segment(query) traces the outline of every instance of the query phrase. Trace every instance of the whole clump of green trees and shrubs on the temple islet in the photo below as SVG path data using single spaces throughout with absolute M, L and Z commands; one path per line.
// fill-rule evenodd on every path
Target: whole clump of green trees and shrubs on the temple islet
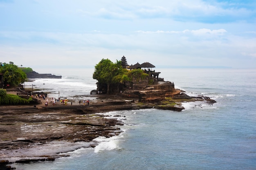
M 93 73 L 93 78 L 98 81 L 97 90 L 106 91 L 107 94 L 124 91 L 146 77 L 148 74 L 141 69 L 127 70 L 122 67 L 121 61 L 113 63 L 109 59 L 102 59 L 95 65 Z

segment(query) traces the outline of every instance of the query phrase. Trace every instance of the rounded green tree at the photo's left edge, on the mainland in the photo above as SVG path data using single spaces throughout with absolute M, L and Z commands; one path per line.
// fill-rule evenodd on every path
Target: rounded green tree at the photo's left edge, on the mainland
M 15 86 L 20 83 L 24 83 L 27 75 L 23 72 L 17 65 L 14 65 L 12 62 L 10 64 L 4 64 L 0 67 L 0 73 L 3 74 L 4 84 Z

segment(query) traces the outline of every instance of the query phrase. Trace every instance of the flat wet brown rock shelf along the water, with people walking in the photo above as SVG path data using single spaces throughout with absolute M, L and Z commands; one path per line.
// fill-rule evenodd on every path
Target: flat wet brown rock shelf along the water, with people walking
M 167 98 L 167 101 L 163 100 L 158 105 L 141 103 L 120 95 L 96 96 L 97 100 L 92 100 L 90 105 L 86 106 L 77 102 L 73 105 L 57 102 L 55 106 L 50 102 L 47 107 L 43 103 L 0 106 L 0 166 L 10 163 L 53 161 L 59 157 L 68 157 L 65 153 L 71 151 L 70 149 L 97 146 L 93 139 L 99 136 L 108 138 L 119 135 L 122 132 L 119 126 L 123 125 L 120 120 L 125 117 L 107 117 L 102 114 L 108 111 L 148 108 L 182 111 L 184 107 L 179 105 L 180 102 L 215 102 L 209 98 L 191 98 L 184 94 L 176 96 L 176 100 Z M 62 147 L 56 148 L 58 145 Z M 66 145 L 69 146 L 69 150 L 63 149 Z M 45 147 L 45 150 L 38 152 L 39 147 Z

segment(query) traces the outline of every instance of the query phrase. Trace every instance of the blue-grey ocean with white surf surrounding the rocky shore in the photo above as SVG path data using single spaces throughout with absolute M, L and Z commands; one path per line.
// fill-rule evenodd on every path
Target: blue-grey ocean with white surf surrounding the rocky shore
M 62 79 L 25 82 L 25 87 L 33 84 L 34 89 L 42 88 L 53 97 L 78 101 L 96 89 L 93 68 L 34 70 L 62 75 Z M 256 169 L 256 69 L 155 70 L 188 95 L 208 96 L 217 103 L 184 103 L 181 112 L 107 112 L 104 114 L 126 116 L 121 117 L 120 135 L 94 139 L 95 148 L 82 143 L 66 153 L 70 157 L 11 166 L 16 170 Z

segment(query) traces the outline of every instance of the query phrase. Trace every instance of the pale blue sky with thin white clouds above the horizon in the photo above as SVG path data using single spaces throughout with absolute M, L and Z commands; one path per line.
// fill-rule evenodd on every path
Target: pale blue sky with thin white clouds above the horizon
M 255 0 L 0 0 L 0 62 L 256 68 Z

